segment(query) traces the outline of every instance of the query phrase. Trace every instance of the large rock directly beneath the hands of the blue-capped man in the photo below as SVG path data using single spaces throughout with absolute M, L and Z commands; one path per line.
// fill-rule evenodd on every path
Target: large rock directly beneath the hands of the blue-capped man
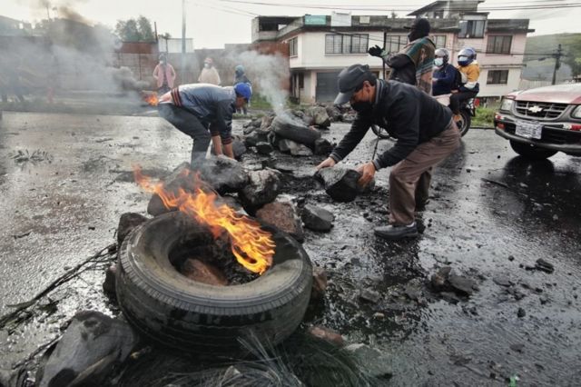
M 201 178 L 220 194 L 235 193 L 248 182 L 248 174 L 242 164 L 223 155 L 206 159 L 202 165 Z

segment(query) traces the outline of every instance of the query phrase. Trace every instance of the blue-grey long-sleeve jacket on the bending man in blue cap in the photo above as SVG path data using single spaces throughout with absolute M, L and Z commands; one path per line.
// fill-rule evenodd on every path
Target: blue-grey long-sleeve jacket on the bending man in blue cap
M 236 93 L 233 87 L 214 84 L 182 84 L 172 89 L 172 101 L 195 114 L 202 124 L 220 134 L 222 144 L 231 142 L 232 114 Z

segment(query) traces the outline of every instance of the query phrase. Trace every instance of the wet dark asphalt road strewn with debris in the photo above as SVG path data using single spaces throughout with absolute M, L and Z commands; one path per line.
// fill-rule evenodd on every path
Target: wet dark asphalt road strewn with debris
M 324 136 L 339 141 L 348 128 L 333 124 Z M 346 163 L 369 160 L 374 144 L 368 134 Z M 388 146 L 380 142 L 379 151 Z M 158 118 L 5 113 L 0 314 L 113 243 L 121 213 L 145 213 L 149 195 L 132 183 L 133 164 L 162 174 L 188 160 L 190 147 Z M 388 353 L 389 385 L 506 385 L 513 375 L 518 385 L 581 381 L 581 158 L 527 162 L 493 131 L 472 130 L 434 176 L 419 213 L 425 232 L 385 243 L 372 229 L 387 220 L 389 170 L 377 174 L 376 192 L 333 203 L 310 179 L 320 158 L 279 157 L 297 167 L 287 193 L 336 215 L 331 233 L 308 232 L 304 243 L 330 276 L 310 320 Z M 555 273 L 527 270 L 538 258 Z M 430 293 L 423 283 L 445 265 L 473 278 L 478 292 L 458 303 Z M 75 312 L 115 313 L 102 282 L 103 273 L 85 273 L 54 293 L 56 311 L 0 331 L 0 368 L 56 337 Z M 379 292 L 379 302 L 362 303 L 360 288 Z

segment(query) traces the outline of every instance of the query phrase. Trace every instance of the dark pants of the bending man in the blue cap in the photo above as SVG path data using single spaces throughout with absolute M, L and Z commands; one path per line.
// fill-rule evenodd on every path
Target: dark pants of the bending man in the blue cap
M 211 140 L 208 128 L 200 122 L 195 114 L 183 107 L 174 104 L 159 104 L 158 108 L 162 118 L 183 134 L 192 137 L 192 169 L 198 169 L 206 157 Z

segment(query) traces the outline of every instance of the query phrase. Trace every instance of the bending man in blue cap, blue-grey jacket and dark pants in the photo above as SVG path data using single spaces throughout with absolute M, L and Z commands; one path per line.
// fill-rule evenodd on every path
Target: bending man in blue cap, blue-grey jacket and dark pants
M 215 154 L 234 158 L 232 114 L 250 101 L 251 87 L 182 84 L 160 97 L 160 116 L 193 139 L 192 169 L 199 169 L 212 138 Z

